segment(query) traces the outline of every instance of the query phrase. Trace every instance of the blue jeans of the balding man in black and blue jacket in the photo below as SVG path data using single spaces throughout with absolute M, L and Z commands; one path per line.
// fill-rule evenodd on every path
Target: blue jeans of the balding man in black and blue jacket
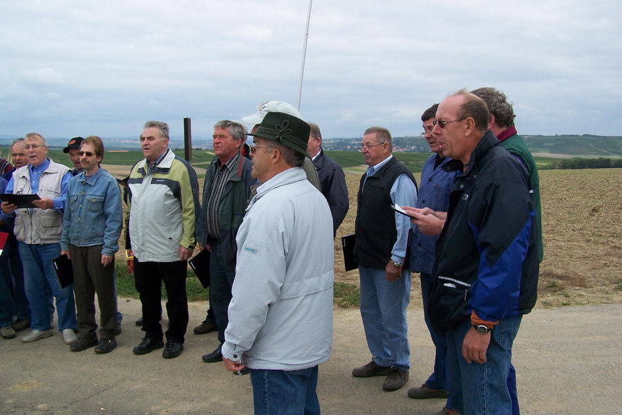
M 486 353 L 487 362 L 466 363 L 462 341 L 471 329 L 471 319 L 447 332 L 449 389 L 454 407 L 462 415 L 510 415 L 512 398 L 508 389 L 512 344 L 522 315 L 505 317 L 494 327 Z

